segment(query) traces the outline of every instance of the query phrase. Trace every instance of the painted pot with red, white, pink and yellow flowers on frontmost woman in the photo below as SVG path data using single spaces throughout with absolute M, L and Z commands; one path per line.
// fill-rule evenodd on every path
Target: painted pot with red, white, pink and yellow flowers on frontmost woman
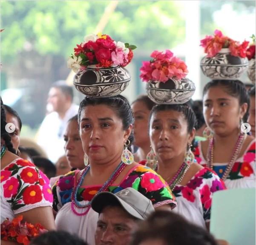
M 74 85 L 86 96 L 109 97 L 125 90 L 131 79 L 124 68 L 131 62 L 135 45 L 115 42 L 106 34 L 90 34 L 74 48 L 68 67 L 76 73 Z

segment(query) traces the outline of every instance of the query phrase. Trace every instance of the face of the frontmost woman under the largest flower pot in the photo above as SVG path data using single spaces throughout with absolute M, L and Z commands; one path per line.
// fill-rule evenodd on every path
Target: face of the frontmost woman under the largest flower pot
M 132 130 L 123 129 L 121 118 L 111 107 L 89 105 L 83 108 L 80 121 L 80 137 L 89 163 L 104 164 L 117 161 Z

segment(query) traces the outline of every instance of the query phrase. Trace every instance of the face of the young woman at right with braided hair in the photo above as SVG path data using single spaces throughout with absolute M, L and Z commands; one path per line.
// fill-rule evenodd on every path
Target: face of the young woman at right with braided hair
M 225 92 L 223 86 L 210 87 L 203 97 L 204 120 L 216 135 L 229 135 L 240 130 L 240 121 L 247 104 L 239 106 L 239 100 Z

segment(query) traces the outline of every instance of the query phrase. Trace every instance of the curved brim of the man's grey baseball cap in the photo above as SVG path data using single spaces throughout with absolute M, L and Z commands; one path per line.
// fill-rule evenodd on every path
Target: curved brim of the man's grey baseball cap
M 133 217 L 144 220 L 144 218 L 138 213 L 138 211 L 135 210 L 135 208 L 111 192 L 101 192 L 92 199 L 92 209 L 99 214 L 106 206 L 111 206 L 113 204 L 119 204 Z

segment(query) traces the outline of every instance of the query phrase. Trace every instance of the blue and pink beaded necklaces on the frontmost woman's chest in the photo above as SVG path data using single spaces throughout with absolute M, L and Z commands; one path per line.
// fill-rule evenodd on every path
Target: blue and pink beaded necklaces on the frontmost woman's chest
M 119 165 L 117 166 L 117 168 L 115 169 L 115 171 L 112 173 L 112 175 L 109 177 L 109 179 L 103 184 L 103 186 L 101 187 L 101 189 L 99 189 L 99 191 L 97 192 L 97 194 L 99 194 L 102 191 L 106 191 L 109 186 L 111 186 L 111 184 L 116 180 L 116 178 L 121 174 L 121 172 L 124 170 L 124 168 L 127 165 L 123 162 L 119 163 Z M 78 194 L 78 189 L 81 187 L 81 184 L 83 183 L 83 179 L 86 176 L 86 174 L 88 173 L 90 169 L 90 165 L 88 165 L 83 172 L 81 173 L 79 179 L 78 179 L 78 183 L 77 185 L 73 187 L 73 191 L 72 191 L 72 195 L 71 195 L 71 209 L 73 211 L 74 214 L 78 215 L 78 216 L 83 216 L 86 215 L 89 212 L 89 209 L 91 208 L 91 202 L 82 205 L 79 203 L 79 201 L 77 200 L 77 194 Z M 97 195 L 95 194 L 95 195 Z M 77 208 L 87 208 L 85 212 L 83 213 L 78 213 L 75 210 L 75 207 Z

